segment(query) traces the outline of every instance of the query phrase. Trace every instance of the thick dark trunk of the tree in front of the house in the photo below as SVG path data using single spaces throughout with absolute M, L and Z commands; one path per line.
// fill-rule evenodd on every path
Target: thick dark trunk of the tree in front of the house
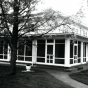
M 11 74 L 16 74 L 16 59 L 17 59 L 17 43 L 18 43 L 18 12 L 19 3 L 18 0 L 14 0 L 14 24 L 13 33 L 11 38 Z

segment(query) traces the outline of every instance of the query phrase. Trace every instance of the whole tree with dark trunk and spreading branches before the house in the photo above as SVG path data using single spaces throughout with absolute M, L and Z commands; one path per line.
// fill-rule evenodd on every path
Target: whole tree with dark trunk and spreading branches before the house
M 11 74 L 16 74 L 16 59 L 19 40 L 22 45 L 26 35 L 33 40 L 43 36 L 55 28 L 65 25 L 65 18 L 58 21 L 57 18 L 63 18 L 60 14 L 49 9 L 41 13 L 34 13 L 38 0 L 0 0 L 0 34 L 9 44 L 11 49 Z M 44 32 L 31 34 L 32 31 L 43 29 Z M 26 36 L 27 37 L 27 36 Z

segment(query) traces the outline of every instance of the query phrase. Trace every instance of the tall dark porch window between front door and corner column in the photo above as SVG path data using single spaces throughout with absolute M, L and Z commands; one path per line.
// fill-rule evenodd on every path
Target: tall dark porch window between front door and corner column
M 64 64 L 65 39 L 55 40 L 55 63 Z

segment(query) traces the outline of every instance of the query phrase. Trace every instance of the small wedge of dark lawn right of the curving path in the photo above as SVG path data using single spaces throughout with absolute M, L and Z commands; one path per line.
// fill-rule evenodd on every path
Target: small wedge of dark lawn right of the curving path
M 69 75 L 71 78 L 88 85 L 88 70 L 72 73 Z

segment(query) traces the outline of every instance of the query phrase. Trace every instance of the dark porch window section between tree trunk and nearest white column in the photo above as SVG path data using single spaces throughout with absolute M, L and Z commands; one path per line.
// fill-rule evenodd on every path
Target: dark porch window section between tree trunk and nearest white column
M 32 61 L 32 41 L 27 41 L 25 45 L 21 44 L 21 41 L 19 41 L 18 60 Z

